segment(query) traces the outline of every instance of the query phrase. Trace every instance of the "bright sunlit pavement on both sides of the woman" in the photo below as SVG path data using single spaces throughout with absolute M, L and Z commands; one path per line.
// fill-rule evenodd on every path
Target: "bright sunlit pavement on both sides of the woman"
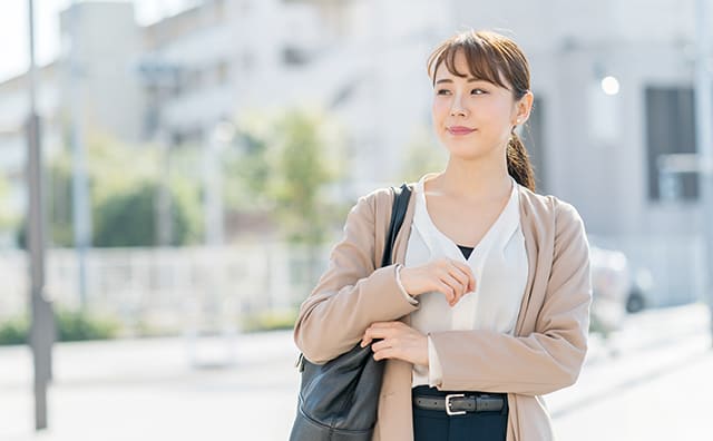
M 593 339 L 577 384 L 547 396 L 559 438 L 711 437 L 707 329 L 705 307 L 691 305 L 633 315 L 609 345 Z M 50 429 L 40 434 L 29 351 L 0 347 L 0 441 L 286 440 L 300 380 L 291 332 L 196 347 L 182 339 L 58 344 Z M 205 367 L 192 366 L 192 354 Z

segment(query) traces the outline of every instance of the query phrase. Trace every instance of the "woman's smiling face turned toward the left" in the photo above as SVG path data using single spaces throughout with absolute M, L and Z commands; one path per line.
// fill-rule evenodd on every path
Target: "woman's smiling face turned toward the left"
M 466 56 L 456 55 L 456 70 L 469 72 Z M 502 81 L 510 87 L 507 80 Z M 436 71 L 432 117 L 438 138 L 451 156 L 462 159 L 505 158 L 518 106 L 509 89 L 486 80 L 458 77 L 445 62 Z M 521 114 L 521 112 L 520 112 Z

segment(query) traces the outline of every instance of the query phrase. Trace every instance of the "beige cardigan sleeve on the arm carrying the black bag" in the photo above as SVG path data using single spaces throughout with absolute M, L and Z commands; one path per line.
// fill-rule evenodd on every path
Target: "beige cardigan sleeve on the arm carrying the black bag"
M 351 350 L 372 323 L 397 320 L 418 308 L 399 287 L 395 264 L 377 268 L 375 204 L 377 193 L 372 193 L 351 209 L 326 272 L 300 307 L 294 341 L 313 363 Z

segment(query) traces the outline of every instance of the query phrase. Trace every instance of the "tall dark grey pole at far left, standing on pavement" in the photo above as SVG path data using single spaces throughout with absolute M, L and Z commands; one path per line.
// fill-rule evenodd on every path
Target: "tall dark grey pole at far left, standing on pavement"
M 28 0 L 30 19 L 30 115 L 28 131 L 27 178 L 30 194 L 28 210 L 28 249 L 30 252 L 31 325 L 30 347 L 33 363 L 35 429 L 47 428 L 47 385 L 52 376 L 52 342 L 55 314 L 45 297 L 45 199 L 42 192 L 42 149 L 40 145 L 40 118 L 37 114 L 37 72 L 35 63 L 35 8 Z

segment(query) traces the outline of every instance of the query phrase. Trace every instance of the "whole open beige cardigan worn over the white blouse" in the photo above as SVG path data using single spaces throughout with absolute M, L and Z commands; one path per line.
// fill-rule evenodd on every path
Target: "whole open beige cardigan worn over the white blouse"
M 443 369 L 442 390 L 508 392 L 508 441 L 554 439 L 539 395 L 573 384 L 587 350 L 589 251 L 576 209 L 519 186 L 528 278 L 515 335 L 488 331 L 432 333 Z M 307 360 L 324 363 L 353 347 L 373 322 L 401 320 L 418 306 L 400 292 L 395 266 L 381 263 L 391 204 L 389 189 L 359 199 L 332 249 L 330 265 L 304 301 L 294 339 Z M 413 197 L 394 245 L 403 263 Z M 387 361 L 374 440 L 411 441 L 410 363 Z

